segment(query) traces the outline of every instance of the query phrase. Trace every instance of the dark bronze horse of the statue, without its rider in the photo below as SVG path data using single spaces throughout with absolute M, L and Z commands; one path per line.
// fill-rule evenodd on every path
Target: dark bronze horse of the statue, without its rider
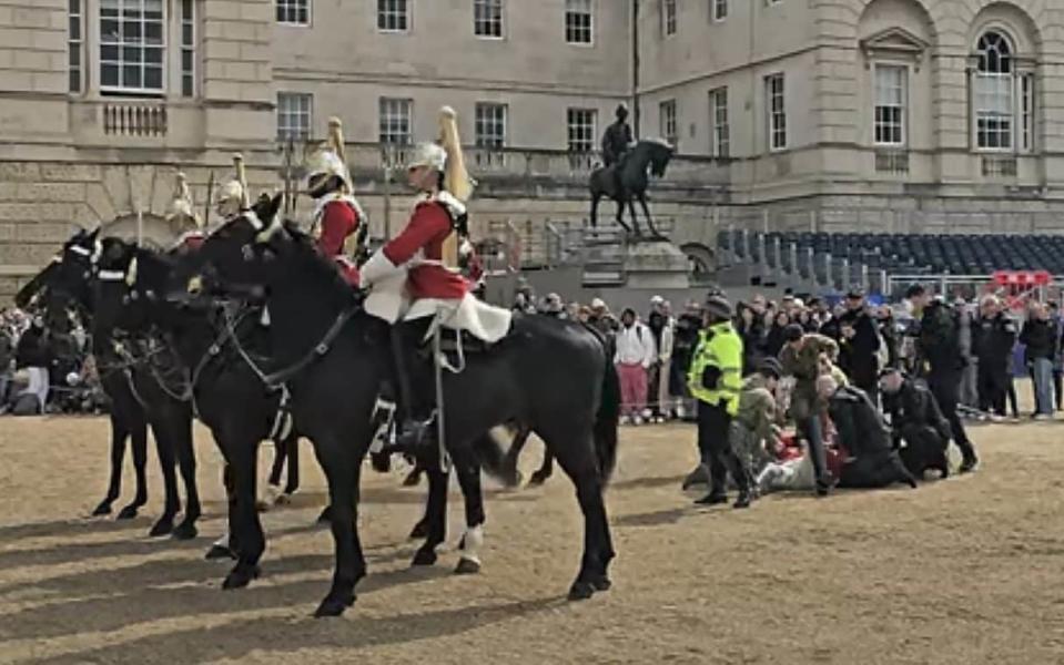
M 647 186 L 649 171 L 655 177 L 665 177 L 665 170 L 672 158 L 672 147 L 657 139 L 645 139 L 636 144 L 625 158 L 611 166 L 600 166 L 591 172 L 588 180 L 588 190 L 591 193 L 591 226 L 598 225 L 598 202 L 602 196 L 609 196 L 617 203 L 617 223 L 625 231 L 639 235 L 639 217 L 636 215 L 636 200 L 642 206 L 642 214 L 647 217 L 647 226 L 653 237 L 660 237 L 653 227 L 650 208 L 647 206 Z M 620 172 L 618 173 L 618 170 Z M 625 206 L 631 213 L 632 228 L 625 224 Z

